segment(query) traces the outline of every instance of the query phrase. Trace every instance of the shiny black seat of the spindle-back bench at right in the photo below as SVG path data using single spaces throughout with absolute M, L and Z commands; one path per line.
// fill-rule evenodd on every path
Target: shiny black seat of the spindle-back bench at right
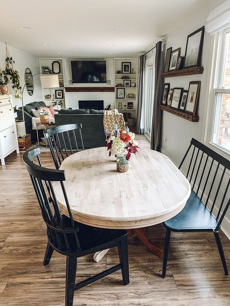
M 192 191 L 183 210 L 163 225 L 172 231 L 212 231 L 217 223 L 218 221 Z

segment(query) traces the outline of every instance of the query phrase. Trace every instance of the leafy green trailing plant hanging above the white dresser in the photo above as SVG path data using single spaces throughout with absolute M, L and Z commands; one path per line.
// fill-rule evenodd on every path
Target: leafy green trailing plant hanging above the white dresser
M 0 91 L 2 94 L 8 93 L 7 84 L 11 83 L 12 89 L 14 90 L 14 96 L 16 99 L 20 98 L 21 94 L 21 85 L 20 85 L 20 76 L 17 70 L 14 69 L 13 64 L 15 61 L 12 57 L 6 57 L 6 66 L 5 70 L 0 73 Z

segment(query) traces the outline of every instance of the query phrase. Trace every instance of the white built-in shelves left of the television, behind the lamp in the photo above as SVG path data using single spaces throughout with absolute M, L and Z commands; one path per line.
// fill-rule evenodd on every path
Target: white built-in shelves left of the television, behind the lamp
M 63 108 L 65 108 L 65 87 L 64 87 L 64 71 L 63 71 L 63 59 L 60 59 L 60 58 L 41 58 L 40 59 L 40 71 L 41 73 L 43 73 L 43 66 L 45 67 L 49 67 L 50 70 L 52 69 L 52 62 L 53 61 L 59 61 L 60 62 L 60 66 L 61 66 L 61 72 L 56 74 L 56 76 L 58 76 L 58 79 L 59 79 L 59 84 L 60 86 L 59 87 L 56 87 L 56 88 L 43 88 L 42 89 L 42 93 L 43 93 L 43 99 L 44 101 L 61 101 L 62 104 L 63 104 Z M 43 74 L 43 75 L 46 75 L 46 74 Z M 56 97 L 56 90 L 62 90 L 63 91 L 63 97 L 62 98 L 58 98 Z M 47 98 L 47 95 L 51 95 L 51 98 Z

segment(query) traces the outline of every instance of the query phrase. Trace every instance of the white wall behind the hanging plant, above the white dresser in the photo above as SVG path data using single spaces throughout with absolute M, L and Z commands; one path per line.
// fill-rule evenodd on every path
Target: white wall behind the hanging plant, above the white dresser
M 8 46 L 8 51 L 10 53 L 10 56 L 12 56 L 13 60 L 15 61 L 14 68 L 19 72 L 20 83 L 21 83 L 21 86 L 23 87 L 25 84 L 24 72 L 27 67 L 31 69 L 32 74 L 36 74 L 40 72 L 39 59 L 36 56 L 33 56 L 19 49 L 16 49 L 12 46 Z M 1 70 L 5 69 L 5 44 L 3 43 L 0 43 L 0 69 Z M 33 81 L 34 81 L 33 95 L 29 96 L 26 89 L 24 90 L 24 93 L 23 93 L 24 105 L 27 103 L 33 102 L 33 101 L 43 100 L 39 75 L 34 76 Z M 9 84 L 8 84 L 8 88 L 9 88 L 9 93 L 13 93 L 11 86 Z M 14 102 L 14 105 L 16 105 L 17 107 L 21 106 L 21 99 L 13 98 L 13 102 Z

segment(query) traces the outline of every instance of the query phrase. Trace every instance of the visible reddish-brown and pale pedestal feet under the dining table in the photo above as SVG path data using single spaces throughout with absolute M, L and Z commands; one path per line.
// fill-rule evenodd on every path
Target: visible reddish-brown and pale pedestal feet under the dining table
M 163 248 L 156 245 L 151 240 L 148 240 L 144 228 L 131 229 L 131 230 L 127 230 L 127 231 L 128 231 L 129 236 L 132 236 L 132 235 L 136 234 L 136 236 L 140 239 L 140 241 L 143 243 L 143 245 L 145 245 L 153 254 L 155 254 L 157 256 L 162 256 Z M 105 256 L 105 254 L 108 251 L 109 251 L 109 249 L 106 249 L 106 250 L 103 250 L 103 251 L 100 251 L 100 252 L 96 252 L 94 254 L 94 261 L 99 262 L 100 260 L 102 260 L 102 258 Z

